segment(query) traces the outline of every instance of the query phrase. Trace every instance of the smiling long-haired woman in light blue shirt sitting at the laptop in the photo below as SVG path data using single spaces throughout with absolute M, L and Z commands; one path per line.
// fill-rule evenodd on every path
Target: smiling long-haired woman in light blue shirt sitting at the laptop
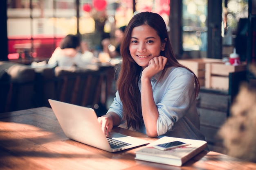
M 121 44 L 118 91 L 107 114 L 99 117 L 104 133 L 126 122 L 149 137 L 205 140 L 195 98 L 199 81 L 177 62 L 166 25 L 156 13 L 134 15 Z

